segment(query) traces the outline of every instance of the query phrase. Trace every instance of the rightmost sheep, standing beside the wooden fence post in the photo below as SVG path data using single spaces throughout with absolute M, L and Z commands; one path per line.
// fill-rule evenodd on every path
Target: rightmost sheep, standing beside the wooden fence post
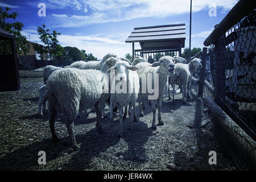
M 177 63 L 175 64 L 175 74 L 170 76 L 170 84 L 172 85 L 172 104 L 174 104 L 174 92 L 175 92 L 175 84 L 181 86 L 182 90 L 182 100 L 184 104 L 187 103 L 185 100 L 185 92 L 186 88 L 188 90 L 187 98 L 191 98 L 189 96 L 189 84 L 191 83 L 193 72 L 196 68 L 201 68 L 201 60 L 198 58 L 193 59 L 188 64 Z

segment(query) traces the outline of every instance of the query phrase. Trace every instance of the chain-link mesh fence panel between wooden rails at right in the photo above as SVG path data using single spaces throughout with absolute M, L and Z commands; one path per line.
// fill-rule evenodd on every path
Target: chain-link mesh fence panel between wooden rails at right
M 203 97 L 212 98 L 254 140 L 255 16 L 254 10 L 210 44 L 203 90 Z

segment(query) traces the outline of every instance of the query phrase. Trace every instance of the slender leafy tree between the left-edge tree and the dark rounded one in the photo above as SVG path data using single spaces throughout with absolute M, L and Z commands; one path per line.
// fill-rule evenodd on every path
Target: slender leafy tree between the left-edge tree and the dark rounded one
M 38 44 L 36 44 L 34 46 L 36 51 L 46 53 L 46 55 L 49 53 L 51 59 L 56 59 L 57 57 L 61 56 L 63 53 L 63 48 L 60 46 L 59 40 L 57 40 L 57 36 L 61 34 L 59 32 L 56 32 L 55 30 L 53 30 L 51 33 L 48 28 L 46 29 L 45 24 L 43 24 L 42 27 L 38 26 L 37 30 L 39 39 L 46 46 L 41 47 Z

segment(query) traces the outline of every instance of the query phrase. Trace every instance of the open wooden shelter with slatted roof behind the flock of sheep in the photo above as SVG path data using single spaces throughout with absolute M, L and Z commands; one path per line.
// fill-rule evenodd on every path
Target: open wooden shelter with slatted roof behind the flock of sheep
M 181 48 L 185 47 L 185 23 L 135 27 L 125 42 L 133 44 L 133 59 L 142 56 L 153 62 L 163 55 L 181 56 Z M 135 42 L 141 49 L 134 49 Z

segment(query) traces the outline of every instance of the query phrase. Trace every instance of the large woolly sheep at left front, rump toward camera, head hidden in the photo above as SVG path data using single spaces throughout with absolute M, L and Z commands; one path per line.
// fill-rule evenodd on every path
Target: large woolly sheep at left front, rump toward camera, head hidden
M 56 114 L 67 114 L 66 126 L 69 138 L 73 149 L 77 150 L 79 147 L 72 129 L 73 122 L 79 111 L 92 106 L 96 110 L 97 129 L 103 133 L 100 111 L 109 98 L 108 88 L 108 74 L 98 70 L 65 68 L 53 72 L 46 83 L 46 98 L 50 111 L 49 126 L 53 141 L 59 140 L 54 127 Z

